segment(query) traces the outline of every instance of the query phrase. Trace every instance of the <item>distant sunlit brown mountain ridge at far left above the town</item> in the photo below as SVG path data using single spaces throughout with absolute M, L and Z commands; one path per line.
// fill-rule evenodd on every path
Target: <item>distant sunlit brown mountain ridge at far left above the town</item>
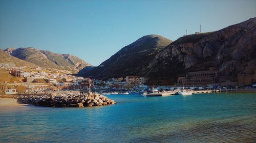
M 36 48 L 8 48 L 4 50 L 10 55 L 35 64 L 39 67 L 58 69 L 67 73 L 77 73 L 90 64 L 71 54 L 58 54 L 51 51 Z

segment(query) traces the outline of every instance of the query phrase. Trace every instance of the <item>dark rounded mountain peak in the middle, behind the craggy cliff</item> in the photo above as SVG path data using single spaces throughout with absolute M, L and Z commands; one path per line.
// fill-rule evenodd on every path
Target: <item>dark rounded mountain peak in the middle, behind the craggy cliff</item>
M 136 75 L 141 70 L 144 60 L 172 43 L 172 40 L 159 35 L 147 35 L 130 45 L 123 47 L 110 59 L 98 67 L 80 70 L 78 75 L 94 78 L 125 77 Z

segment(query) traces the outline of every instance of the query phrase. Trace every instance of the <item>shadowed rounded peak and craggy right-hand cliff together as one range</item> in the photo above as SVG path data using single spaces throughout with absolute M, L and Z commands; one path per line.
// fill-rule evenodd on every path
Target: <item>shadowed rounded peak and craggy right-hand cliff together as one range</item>
M 123 47 L 98 67 L 78 75 L 93 78 L 148 77 L 148 83 L 171 84 L 187 72 L 212 70 L 241 84 L 256 82 L 256 18 L 210 33 L 187 35 L 172 42 L 144 36 Z

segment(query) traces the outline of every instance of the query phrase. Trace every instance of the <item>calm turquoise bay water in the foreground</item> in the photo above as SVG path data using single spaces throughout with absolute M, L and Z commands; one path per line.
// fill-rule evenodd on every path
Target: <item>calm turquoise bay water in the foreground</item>
M 118 104 L 0 107 L 0 142 L 256 142 L 256 93 L 108 97 Z

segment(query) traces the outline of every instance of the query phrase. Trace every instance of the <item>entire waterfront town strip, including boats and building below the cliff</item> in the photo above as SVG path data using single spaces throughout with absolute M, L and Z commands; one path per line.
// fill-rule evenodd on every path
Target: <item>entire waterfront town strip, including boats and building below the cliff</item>
M 70 74 L 47 73 L 40 67 L 36 68 L 35 71 L 26 71 L 24 67 L 2 64 L 1 69 L 8 71 L 10 76 L 17 79 L 17 81 L 12 82 L 1 82 L 1 94 L 5 95 L 40 94 L 46 91 L 79 91 L 80 93 L 87 93 L 89 81 L 92 83 L 90 90 L 100 94 L 147 93 L 147 96 L 163 96 L 164 94 L 159 94 L 159 91 L 175 91 L 173 93 L 169 92 L 169 95 L 174 95 L 182 89 L 188 92 L 191 90 L 190 92 L 195 94 L 256 88 L 255 84 L 241 87 L 232 76 L 224 76 L 212 71 L 189 72 L 186 76 L 179 77 L 174 85 L 156 86 L 146 85 L 147 78 L 140 76 L 98 80 Z

